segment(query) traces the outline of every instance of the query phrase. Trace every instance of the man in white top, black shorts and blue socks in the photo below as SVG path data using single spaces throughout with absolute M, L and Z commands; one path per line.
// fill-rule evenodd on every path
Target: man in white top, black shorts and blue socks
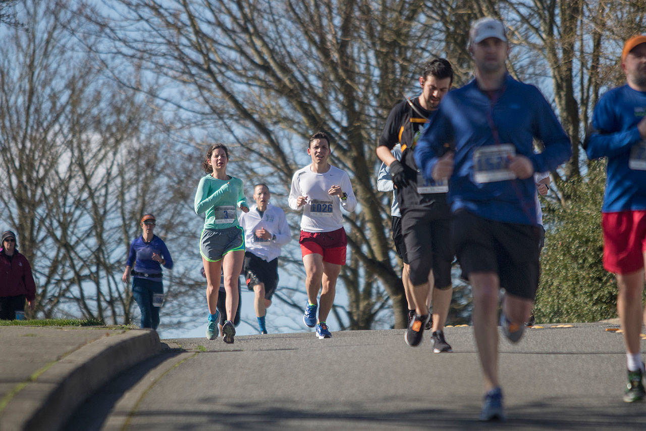
M 266 184 L 256 184 L 253 188 L 256 205 L 238 217 L 247 245 L 242 270 L 247 289 L 255 293 L 253 305 L 261 334 L 267 333 L 266 309 L 271 305 L 271 297 L 278 286 L 280 247 L 291 240 L 285 212 L 270 204 L 270 197 Z

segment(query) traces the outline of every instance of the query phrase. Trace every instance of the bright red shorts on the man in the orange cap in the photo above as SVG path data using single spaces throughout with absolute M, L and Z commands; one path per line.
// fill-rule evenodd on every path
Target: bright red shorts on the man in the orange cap
M 646 251 L 646 211 L 602 214 L 603 267 L 616 274 L 643 268 Z

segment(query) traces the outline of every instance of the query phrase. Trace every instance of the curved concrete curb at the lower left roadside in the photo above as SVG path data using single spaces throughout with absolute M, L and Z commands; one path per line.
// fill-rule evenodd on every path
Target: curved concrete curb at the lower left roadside
M 155 331 L 99 338 L 56 362 L 16 394 L 3 415 L 7 431 L 58 430 L 110 379 L 161 351 Z

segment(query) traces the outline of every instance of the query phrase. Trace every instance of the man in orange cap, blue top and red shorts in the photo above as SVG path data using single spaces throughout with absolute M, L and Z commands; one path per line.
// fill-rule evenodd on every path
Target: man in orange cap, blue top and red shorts
M 632 403 L 645 396 L 640 332 L 646 259 L 646 35 L 626 41 L 621 69 L 627 83 L 599 100 L 584 148 L 590 159 L 608 158 L 601 208 L 603 267 L 617 278 L 617 312 L 628 361 L 623 401 Z

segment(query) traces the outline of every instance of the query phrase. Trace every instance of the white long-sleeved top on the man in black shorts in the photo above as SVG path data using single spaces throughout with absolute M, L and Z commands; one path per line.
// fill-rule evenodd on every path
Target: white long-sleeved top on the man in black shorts
M 253 205 L 249 212 L 243 212 L 238 217 L 240 226 L 244 229 L 245 249 L 252 252 L 258 258 L 267 262 L 280 256 L 280 247 L 286 245 L 291 240 L 289 225 L 285 212 L 267 203 L 267 210 L 260 217 L 258 206 Z M 275 239 L 262 240 L 256 237 L 256 230 L 265 228 L 270 234 L 275 235 Z

